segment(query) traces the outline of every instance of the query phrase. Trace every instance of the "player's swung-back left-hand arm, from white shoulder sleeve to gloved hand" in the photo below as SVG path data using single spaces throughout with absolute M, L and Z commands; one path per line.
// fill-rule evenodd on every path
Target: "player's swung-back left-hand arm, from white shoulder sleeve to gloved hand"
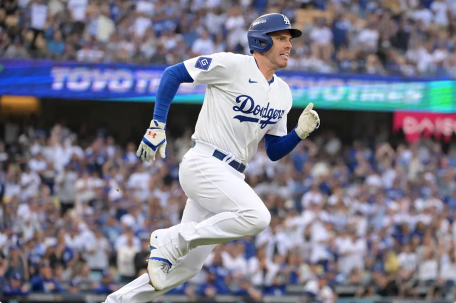
M 155 100 L 154 117 L 139 144 L 136 155 L 143 161 L 155 160 L 157 149 L 162 158 L 166 148 L 166 118 L 181 83 L 229 84 L 237 73 L 237 55 L 216 53 L 185 60 L 163 72 Z

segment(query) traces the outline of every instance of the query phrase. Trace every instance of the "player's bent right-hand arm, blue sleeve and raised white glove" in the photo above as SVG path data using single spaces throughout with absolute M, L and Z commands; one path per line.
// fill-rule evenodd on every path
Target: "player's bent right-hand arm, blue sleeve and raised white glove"
M 299 116 L 298 123 L 293 130 L 285 136 L 267 134 L 264 136 L 266 154 L 272 161 L 282 159 L 290 153 L 301 140 L 306 139 L 320 126 L 320 117 L 313 110 L 314 104 L 309 103 Z M 286 125 L 286 120 L 282 122 Z

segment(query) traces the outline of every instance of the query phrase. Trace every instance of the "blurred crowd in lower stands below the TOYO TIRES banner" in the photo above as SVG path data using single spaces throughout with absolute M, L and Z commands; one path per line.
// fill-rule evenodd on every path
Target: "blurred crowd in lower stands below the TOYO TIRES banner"
M 137 142 L 119 146 L 102 132 L 4 130 L 3 293 L 107 294 L 144 273 L 150 232 L 178 223 L 185 206 L 178 163 L 192 132 L 168 138 L 167 157 L 148 163 Z M 344 145 L 322 131 L 276 162 L 261 143 L 245 174 L 271 211 L 269 228 L 216 246 L 172 292 L 259 299 L 297 285 L 330 303 L 349 285 L 360 297 L 454 298 L 456 145 L 371 139 Z

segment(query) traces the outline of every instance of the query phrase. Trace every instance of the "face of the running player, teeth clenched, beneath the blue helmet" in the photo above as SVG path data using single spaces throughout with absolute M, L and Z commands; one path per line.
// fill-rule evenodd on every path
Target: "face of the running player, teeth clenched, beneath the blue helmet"
M 270 33 L 274 44 L 264 53 L 275 69 L 284 68 L 288 65 L 288 57 L 291 51 L 291 34 L 289 30 L 279 30 Z

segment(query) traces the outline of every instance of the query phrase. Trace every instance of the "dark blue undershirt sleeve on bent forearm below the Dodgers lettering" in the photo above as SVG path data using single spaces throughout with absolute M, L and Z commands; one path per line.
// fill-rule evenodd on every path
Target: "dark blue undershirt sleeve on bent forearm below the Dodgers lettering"
M 296 134 L 294 128 L 290 133 L 282 137 L 268 134 L 264 136 L 266 154 L 271 161 L 282 159 L 291 152 L 299 142 L 301 142 L 301 138 Z

